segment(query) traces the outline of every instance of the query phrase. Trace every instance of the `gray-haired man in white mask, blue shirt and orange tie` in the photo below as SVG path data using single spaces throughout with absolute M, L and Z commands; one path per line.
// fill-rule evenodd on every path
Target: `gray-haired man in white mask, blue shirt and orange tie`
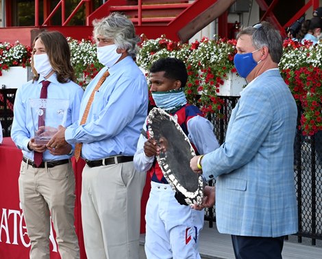
M 145 173 L 133 155 L 147 116 L 148 88 L 133 58 L 134 25 L 113 13 L 94 22 L 97 57 L 104 68 L 86 87 L 77 123 L 47 146 L 75 144 L 86 161 L 82 174 L 82 223 L 88 259 L 138 259 L 140 199 Z

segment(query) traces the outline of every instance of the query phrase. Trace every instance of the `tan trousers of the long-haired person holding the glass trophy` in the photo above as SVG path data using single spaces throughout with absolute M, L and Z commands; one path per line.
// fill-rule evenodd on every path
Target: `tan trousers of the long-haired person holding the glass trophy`
M 49 259 L 50 216 L 62 259 L 79 258 L 74 226 L 75 176 L 71 162 L 52 168 L 21 163 L 19 196 L 31 241 L 31 259 Z

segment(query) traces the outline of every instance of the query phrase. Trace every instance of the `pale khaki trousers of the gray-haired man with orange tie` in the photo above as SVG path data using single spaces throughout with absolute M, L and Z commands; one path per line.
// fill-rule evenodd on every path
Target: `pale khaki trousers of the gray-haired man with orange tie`
M 81 202 L 88 259 L 138 259 L 145 176 L 133 162 L 85 165 Z

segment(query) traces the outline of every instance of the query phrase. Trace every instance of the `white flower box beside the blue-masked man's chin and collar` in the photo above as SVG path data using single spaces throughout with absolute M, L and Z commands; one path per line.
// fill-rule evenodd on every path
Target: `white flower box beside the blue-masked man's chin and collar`
M 236 73 L 230 73 L 228 79 L 223 80 L 223 85 L 219 86 L 219 96 L 240 96 L 240 92 L 247 85 L 247 81 L 243 77 L 239 77 Z

